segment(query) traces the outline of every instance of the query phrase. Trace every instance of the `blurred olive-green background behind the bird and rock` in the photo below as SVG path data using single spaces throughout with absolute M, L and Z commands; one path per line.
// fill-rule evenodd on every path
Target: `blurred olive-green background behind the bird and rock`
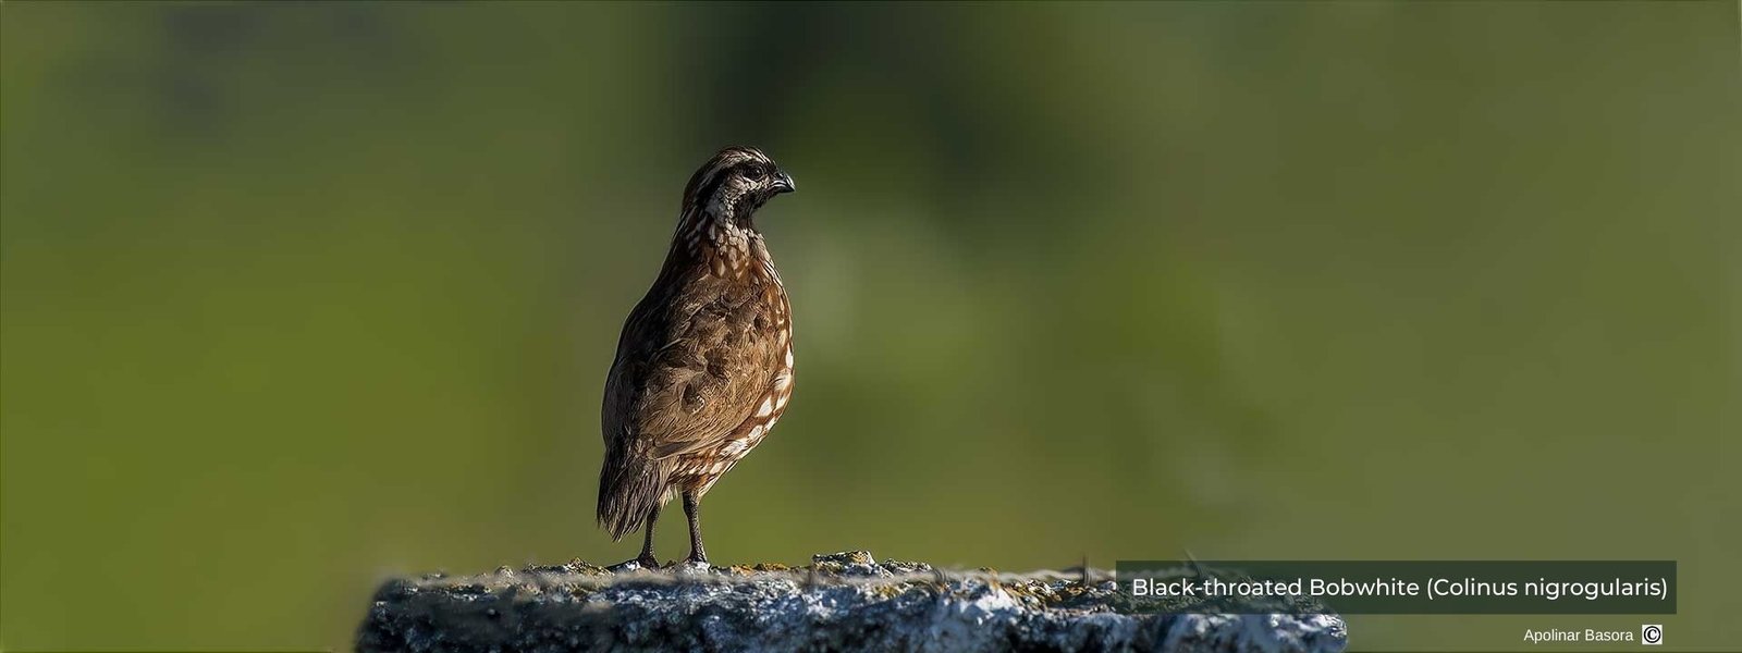
M 800 390 L 718 562 L 1678 559 L 1665 648 L 1742 641 L 1733 2 L 0 16 L 7 650 L 631 557 L 603 378 L 735 143 Z

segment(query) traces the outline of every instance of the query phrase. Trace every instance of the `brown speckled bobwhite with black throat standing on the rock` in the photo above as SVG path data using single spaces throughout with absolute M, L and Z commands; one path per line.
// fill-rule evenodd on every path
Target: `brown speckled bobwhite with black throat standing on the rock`
M 624 320 L 604 381 L 598 521 L 613 542 L 653 524 L 672 498 L 690 522 L 686 566 L 707 568 L 702 496 L 751 453 L 793 397 L 793 310 L 756 211 L 796 186 L 749 146 L 719 150 L 690 176 L 658 277 Z

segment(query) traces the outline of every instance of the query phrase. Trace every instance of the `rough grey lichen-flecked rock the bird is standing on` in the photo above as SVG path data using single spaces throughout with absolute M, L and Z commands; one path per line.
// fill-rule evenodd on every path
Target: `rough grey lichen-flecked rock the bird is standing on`
M 357 650 L 1305 653 L 1348 643 L 1336 615 L 1125 615 L 1118 604 L 1096 569 L 951 573 L 868 552 L 634 573 L 575 561 L 390 580 Z

